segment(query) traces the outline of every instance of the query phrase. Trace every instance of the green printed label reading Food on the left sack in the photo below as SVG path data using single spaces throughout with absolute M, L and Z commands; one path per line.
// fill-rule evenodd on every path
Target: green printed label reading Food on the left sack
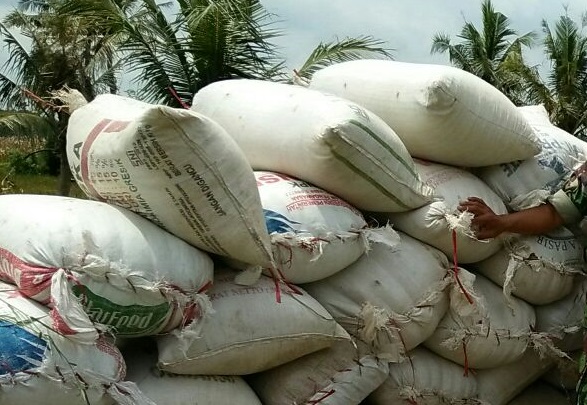
M 74 285 L 72 291 L 81 299 L 92 321 L 112 327 L 119 336 L 156 334 L 165 326 L 171 311 L 168 302 L 159 305 L 119 305 L 94 294 L 84 285 Z

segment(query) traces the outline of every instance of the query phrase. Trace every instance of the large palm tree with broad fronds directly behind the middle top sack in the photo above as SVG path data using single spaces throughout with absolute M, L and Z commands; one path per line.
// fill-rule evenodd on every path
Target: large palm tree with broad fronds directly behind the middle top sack
M 109 24 L 124 35 L 121 51 L 140 90 L 135 97 L 188 106 L 202 87 L 231 78 L 290 81 L 272 40 L 282 35 L 258 0 L 141 0 L 132 13 L 113 0 L 70 0 L 62 11 Z M 319 44 L 298 72 L 308 78 L 318 67 L 361 55 L 389 54 L 370 38 Z

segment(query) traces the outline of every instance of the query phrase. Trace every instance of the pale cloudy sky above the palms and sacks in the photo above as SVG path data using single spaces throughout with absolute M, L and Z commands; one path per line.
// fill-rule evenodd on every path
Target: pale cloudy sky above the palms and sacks
M 481 0 L 261 0 L 273 14 L 272 27 L 283 32 L 274 40 L 287 67 L 300 67 L 320 42 L 346 37 L 372 36 L 392 49 L 395 60 L 414 63 L 449 64 L 447 55 L 431 55 L 434 34 L 443 32 L 453 41 L 466 21 L 481 28 Z M 16 0 L 0 0 L 0 17 L 13 9 Z M 581 21 L 587 11 L 584 0 L 493 0 L 518 34 L 534 31 L 542 37 L 545 19 L 554 29 L 565 13 Z M 0 50 L 0 63 L 7 52 Z M 542 49 L 526 52 L 526 60 L 546 69 Z

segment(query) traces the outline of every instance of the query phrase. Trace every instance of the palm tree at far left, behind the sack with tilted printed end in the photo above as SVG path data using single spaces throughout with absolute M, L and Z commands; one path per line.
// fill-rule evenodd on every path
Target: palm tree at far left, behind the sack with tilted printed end
M 50 173 L 60 174 L 61 195 L 71 186 L 65 152 L 69 115 L 55 91 L 78 89 L 92 99 L 96 92 L 116 90 L 114 48 L 107 35 L 82 19 L 56 12 L 59 0 L 19 2 L 19 8 L 0 23 L 0 36 L 8 50 L 8 62 L 0 72 L 0 116 L 4 133 L 39 136 L 45 140 Z M 12 33 L 18 29 L 30 40 L 23 44 Z

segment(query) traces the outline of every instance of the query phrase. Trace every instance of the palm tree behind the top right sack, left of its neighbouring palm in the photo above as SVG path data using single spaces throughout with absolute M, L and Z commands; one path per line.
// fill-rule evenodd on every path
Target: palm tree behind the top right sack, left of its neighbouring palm
M 448 53 L 454 66 L 482 78 L 519 103 L 521 89 L 512 87 L 514 82 L 508 80 L 506 66 L 523 63 L 522 48 L 532 45 L 535 34 L 518 36 L 510 28 L 508 17 L 495 11 L 491 0 L 483 0 L 481 12 L 481 31 L 466 21 L 457 36 L 462 39 L 458 44 L 452 44 L 447 34 L 437 33 L 432 39 L 431 53 Z

